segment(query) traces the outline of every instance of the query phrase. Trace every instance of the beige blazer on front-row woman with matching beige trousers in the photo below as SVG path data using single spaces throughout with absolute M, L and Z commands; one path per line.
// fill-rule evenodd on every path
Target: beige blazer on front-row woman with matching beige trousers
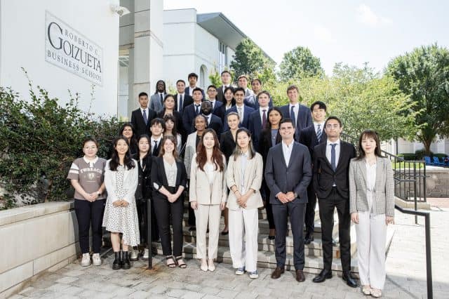
M 196 163 L 196 154 L 192 157 L 190 166 L 189 201 L 198 201 L 198 204 L 220 204 L 226 202 L 226 159 L 223 158 L 223 171 L 213 171 L 213 184 L 210 190 L 208 175 Z

